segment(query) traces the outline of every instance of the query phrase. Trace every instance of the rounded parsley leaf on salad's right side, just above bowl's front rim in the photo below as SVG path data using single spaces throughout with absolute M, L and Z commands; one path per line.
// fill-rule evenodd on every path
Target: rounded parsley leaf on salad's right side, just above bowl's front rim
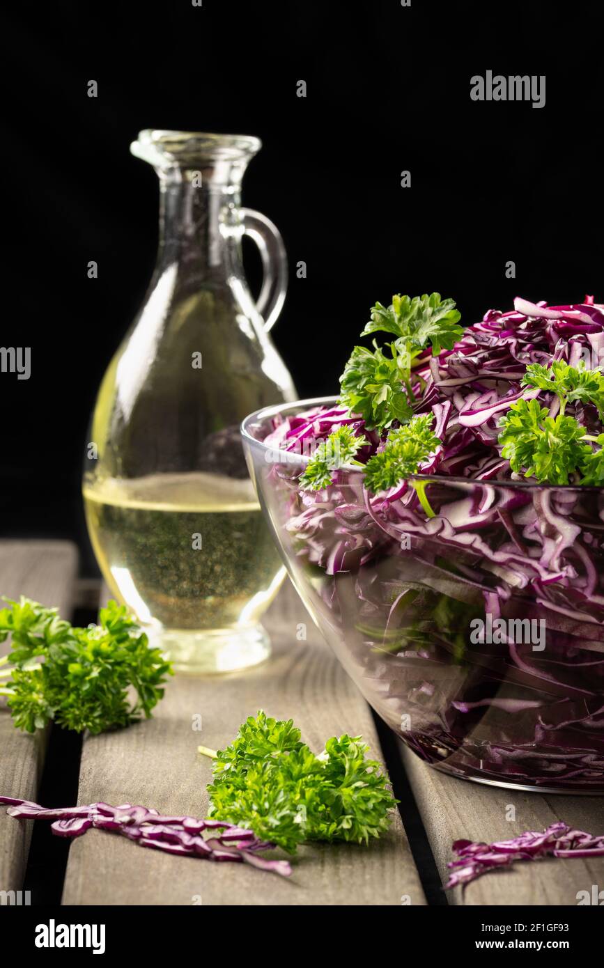
M 574 417 L 548 413 L 536 400 L 513 404 L 499 420 L 501 454 L 516 473 L 539 483 L 568 484 L 591 454 L 586 429 Z

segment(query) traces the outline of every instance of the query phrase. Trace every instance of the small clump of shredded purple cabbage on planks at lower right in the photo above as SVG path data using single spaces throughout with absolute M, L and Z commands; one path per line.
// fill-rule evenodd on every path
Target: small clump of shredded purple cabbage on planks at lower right
M 517 861 L 536 861 L 541 857 L 584 858 L 604 857 L 604 834 L 593 836 L 585 831 L 575 831 L 561 821 L 546 831 L 527 831 L 511 840 L 499 840 L 492 844 L 471 840 L 456 840 L 453 852 L 457 860 L 447 863 L 451 870 L 445 890 L 468 884 L 481 874 L 488 874 L 496 867 L 508 867 Z

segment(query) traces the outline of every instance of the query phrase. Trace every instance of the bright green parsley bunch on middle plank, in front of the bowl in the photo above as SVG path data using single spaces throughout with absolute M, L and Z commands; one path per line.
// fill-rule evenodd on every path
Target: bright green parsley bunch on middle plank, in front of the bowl
M 397 802 L 377 761 L 366 758 L 368 748 L 360 736 L 345 734 L 316 756 L 291 719 L 259 711 L 215 754 L 210 816 L 290 854 L 307 840 L 367 843 L 387 830 Z

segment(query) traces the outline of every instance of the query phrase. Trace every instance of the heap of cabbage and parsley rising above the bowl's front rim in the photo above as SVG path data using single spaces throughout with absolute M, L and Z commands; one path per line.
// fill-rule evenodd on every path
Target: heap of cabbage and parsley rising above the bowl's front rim
M 361 335 L 386 325 L 393 334 L 403 328 L 397 326 L 394 309 L 401 297 L 393 299 L 389 310 L 377 303 Z M 388 346 L 392 356 L 377 346 L 374 351 L 356 347 L 336 406 L 300 413 L 264 442 L 304 453 L 305 441 L 315 447 L 329 441 L 331 455 L 320 453 L 306 471 L 304 483 L 312 490 L 336 482 L 334 474 L 321 477 L 321 471 L 346 466 L 349 459 L 371 468 L 371 458 L 396 450 L 403 426 L 417 427 L 408 443 L 418 444 L 418 460 L 412 470 L 408 464 L 407 473 L 601 486 L 602 441 L 594 438 L 604 430 L 599 368 L 600 359 L 604 362 L 604 306 L 594 305 L 592 296 L 580 305 L 555 307 L 515 299 L 513 311 L 489 310 L 481 322 L 462 331 L 453 300 L 441 302 L 433 293 L 408 302 L 430 300 L 446 307 L 454 320 L 448 330 L 438 331 L 439 341 L 448 334 L 449 343 L 461 336 L 450 348 L 440 343 L 426 347 L 430 336 L 422 339 L 423 346 L 415 346 L 419 339 L 413 342 L 412 336 L 399 337 Z M 374 322 L 378 314 L 390 319 Z M 433 446 L 424 455 L 420 431 L 426 428 L 433 432 L 427 440 Z M 393 456 L 390 464 L 395 463 Z M 390 484 L 385 468 L 385 461 L 376 467 L 381 471 L 374 478 L 377 485 Z M 381 489 L 389 501 L 408 488 L 403 476 L 392 480 Z

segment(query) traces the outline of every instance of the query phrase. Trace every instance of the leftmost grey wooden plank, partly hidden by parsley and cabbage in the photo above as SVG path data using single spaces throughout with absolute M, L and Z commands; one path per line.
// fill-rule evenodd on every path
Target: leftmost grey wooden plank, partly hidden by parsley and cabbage
M 0 541 L 0 593 L 28 595 L 56 605 L 70 618 L 76 581 L 76 546 L 68 541 Z M 0 646 L 5 654 L 10 644 Z M 0 697 L 0 789 L 5 796 L 34 800 L 42 772 L 46 732 L 34 736 L 15 730 Z M 15 823 L 0 806 L 0 890 L 18 891 L 23 880 L 31 822 Z

